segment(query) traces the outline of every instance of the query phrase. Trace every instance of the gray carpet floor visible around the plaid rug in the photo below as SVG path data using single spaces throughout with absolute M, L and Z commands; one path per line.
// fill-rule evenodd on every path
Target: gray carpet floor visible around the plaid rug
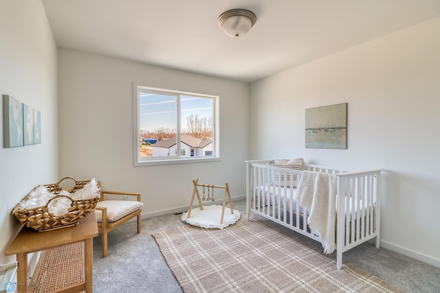
M 234 202 L 234 208 L 244 212 L 245 201 Z M 180 217 L 163 215 L 142 219 L 140 234 L 136 234 L 135 221 L 109 232 L 109 256 L 105 259 L 101 258 L 101 239 L 96 237 L 94 292 L 182 292 L 151 236 L 153 232 L 186 225 Z M 276 224 L 274 226 L 286 229 Z M 295 234 L 301 241 L 320 248 L 320 243 Z M 344 261 L 408 293 L 440 292 L 440 268 L 391 250 L 377 249 L 372 243 L 363 243 L 345 252 Z

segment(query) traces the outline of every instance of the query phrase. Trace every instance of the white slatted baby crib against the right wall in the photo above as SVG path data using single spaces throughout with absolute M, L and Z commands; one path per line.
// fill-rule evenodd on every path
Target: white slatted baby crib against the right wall
M 256 213 L 320 241 L 307 226 L 309 211 L 296 201 L 296 182 L 302 171 L 271 166 L 272 160 L 246 161 L 246 214 Z M 336 195 L 336 267 L 342 253 L 375 238 L 380 245 L 381 170 L 353 171 L 304 164 L 304 170 L 331 173 L 338 178 Z M 289 186 L 292 186 L 289 187 Z M 341 215 L 344 215 L 341 217 Z

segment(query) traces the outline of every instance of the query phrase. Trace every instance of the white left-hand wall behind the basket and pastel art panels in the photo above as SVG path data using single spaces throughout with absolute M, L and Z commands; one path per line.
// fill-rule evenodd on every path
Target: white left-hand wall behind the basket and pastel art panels
M 56 45 L 41 1 L 0 0 L 0 95 L 41 111 L 41 144 L 3 148 L 0 97 L 0 263 L 21 228 L 11 211 L 38 184 L 58 180 Z

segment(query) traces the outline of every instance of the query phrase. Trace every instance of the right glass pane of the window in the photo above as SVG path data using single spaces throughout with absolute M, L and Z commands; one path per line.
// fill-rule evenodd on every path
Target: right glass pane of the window
M 214 99 L 180 96 L 181 156 L 212 156 Z

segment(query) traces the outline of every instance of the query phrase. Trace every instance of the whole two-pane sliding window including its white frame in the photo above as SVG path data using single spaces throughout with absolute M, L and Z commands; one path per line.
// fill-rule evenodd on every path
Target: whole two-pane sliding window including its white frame
M 133 91 L 135 166 L 219 160 L 218 96 L 139 85 Z

